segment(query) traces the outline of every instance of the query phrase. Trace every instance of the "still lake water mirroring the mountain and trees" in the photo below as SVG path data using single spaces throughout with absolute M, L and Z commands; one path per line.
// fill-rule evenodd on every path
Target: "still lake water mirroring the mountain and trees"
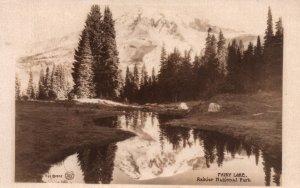
M 281 153 L 217 132 L 161 125 L 167 118 L 135 111 L 96 119 L 137 136 L 106 146 L 85 148 L 53 164 L 43 182 L 112 184 L 280 185 Z M 216 181 L 218 173 L 244 173 L 244 181 Z M 197 181 L 213 179 L 213 181 Z M 232 179 L 232 178 L 231 178 Z M 233 178 L 235 179 L 235 178 Z M 250 180 L 250 182 L 248 181 Z

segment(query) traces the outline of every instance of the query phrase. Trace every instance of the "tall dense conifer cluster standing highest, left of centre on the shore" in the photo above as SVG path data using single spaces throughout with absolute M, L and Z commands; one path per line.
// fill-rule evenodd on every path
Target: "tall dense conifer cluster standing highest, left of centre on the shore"
M 109 98 L 119 95 L 120 71 L 114 20 L 109 7 L 104 15 L 93 5 L 75 50 L 73 93 L 78 98 Z

